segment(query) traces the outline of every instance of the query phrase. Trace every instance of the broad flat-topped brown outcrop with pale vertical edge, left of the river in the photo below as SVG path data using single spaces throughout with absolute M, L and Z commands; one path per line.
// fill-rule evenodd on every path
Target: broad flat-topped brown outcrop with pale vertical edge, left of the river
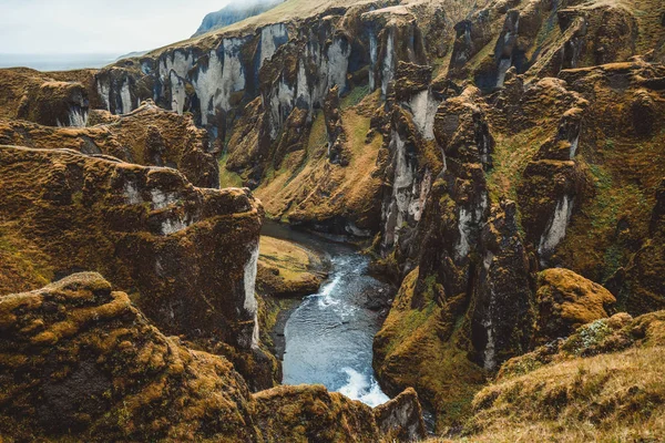
M 69 150 L 3 146 L 0 172 L 3 229 L 43 255 L 35 272 L 103 272 L 165 332 L 262 353 L 263 209 L 247 189 L 196 188 L 175 169 Z

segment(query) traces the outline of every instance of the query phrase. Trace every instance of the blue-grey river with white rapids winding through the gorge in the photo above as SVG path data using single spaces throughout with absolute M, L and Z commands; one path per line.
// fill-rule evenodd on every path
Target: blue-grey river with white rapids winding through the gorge
M 264 233 L 323 253 L 330 262 L 319 291 L 305 297 L 286 322 L 283 383 L 324 384 L 370 406 L 387 402 L 371 367 L 380 319 L 367 302 L 390 286 L 368 275 L 369 259 L 352 247 L 274 226 Z

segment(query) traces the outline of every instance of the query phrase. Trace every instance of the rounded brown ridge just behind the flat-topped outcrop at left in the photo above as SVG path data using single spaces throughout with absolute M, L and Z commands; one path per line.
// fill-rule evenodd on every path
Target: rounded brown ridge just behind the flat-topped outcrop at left
M 164 111 L 152 102 L 127 115 L 104 116 L 85 128 L 55 128 L 22 121 L 0 122 L 0 144 L 70 148 L 123 162 L 178 169 L 194 186 L 219 187 L 218 164 L 205 131 L 190 116 Z M 92 122 L 91 122 L 92 123 Z

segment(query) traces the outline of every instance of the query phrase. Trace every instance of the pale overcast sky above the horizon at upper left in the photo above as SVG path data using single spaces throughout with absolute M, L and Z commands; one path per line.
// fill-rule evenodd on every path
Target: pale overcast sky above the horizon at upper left
M 190 38 L 243 0 L 0 0 L 0 53 L 124 54 Z

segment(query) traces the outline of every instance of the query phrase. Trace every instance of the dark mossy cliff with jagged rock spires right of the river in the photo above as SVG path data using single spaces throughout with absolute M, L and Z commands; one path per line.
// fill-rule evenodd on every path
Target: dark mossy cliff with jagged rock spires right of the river
M 452 347 L 478 370 L 491 370 L 531 349 L 543 333 L 550 339 L 571 333 L 565 324 L 580 321 L 574 316 L 600 312 L 591 321 L 608 313 L 614 298 L 616 309 L 632 313 L 661 309 L 662 279 L 651 272 L 663 255 L 657 228 L 663 135 L 655 130 L 663 119 L 651 112 L 662 104 L 662 70 L 635 60 L 529 82 L 511 69 L 504 87 L 490 97 L 467 87 L 439 106 L 434 135 L 446 168 L 420 220 L 400 230 L 383 264 L 398 275 L 418 269 L 417 279 L 403 284 L 413 288 L 407 315 L 431 318 L 443 349 Z M 391 237 L 383 236 L 386 244 Z M 597 297 L 584 297 L 580 306 L 559 306 L 560 313 L 551 316 L 553 300 L 542 299 L 534 272 L 553 266 L 603 282 L 613 295 L 602 290 L 601 311 Z M 567 309 L 575 313 L 566 320 Z M 430 361 L 416 342 L 408 344 L 417 336 L 397 332 L 405 324 L 391 329 L 387 321 L 377 336 L 377 371 L 396 390 L 420 385 L 434 408 L 450 411 L 450 402 L 462 401 L 460 390 L 418 384 L 422 369 L 416 364 L 391 368 L 403 353 L 412 353 L 409 361 Z M 441 383 L 457 377 L 473 385 L 467 364 L 438 370 Z

